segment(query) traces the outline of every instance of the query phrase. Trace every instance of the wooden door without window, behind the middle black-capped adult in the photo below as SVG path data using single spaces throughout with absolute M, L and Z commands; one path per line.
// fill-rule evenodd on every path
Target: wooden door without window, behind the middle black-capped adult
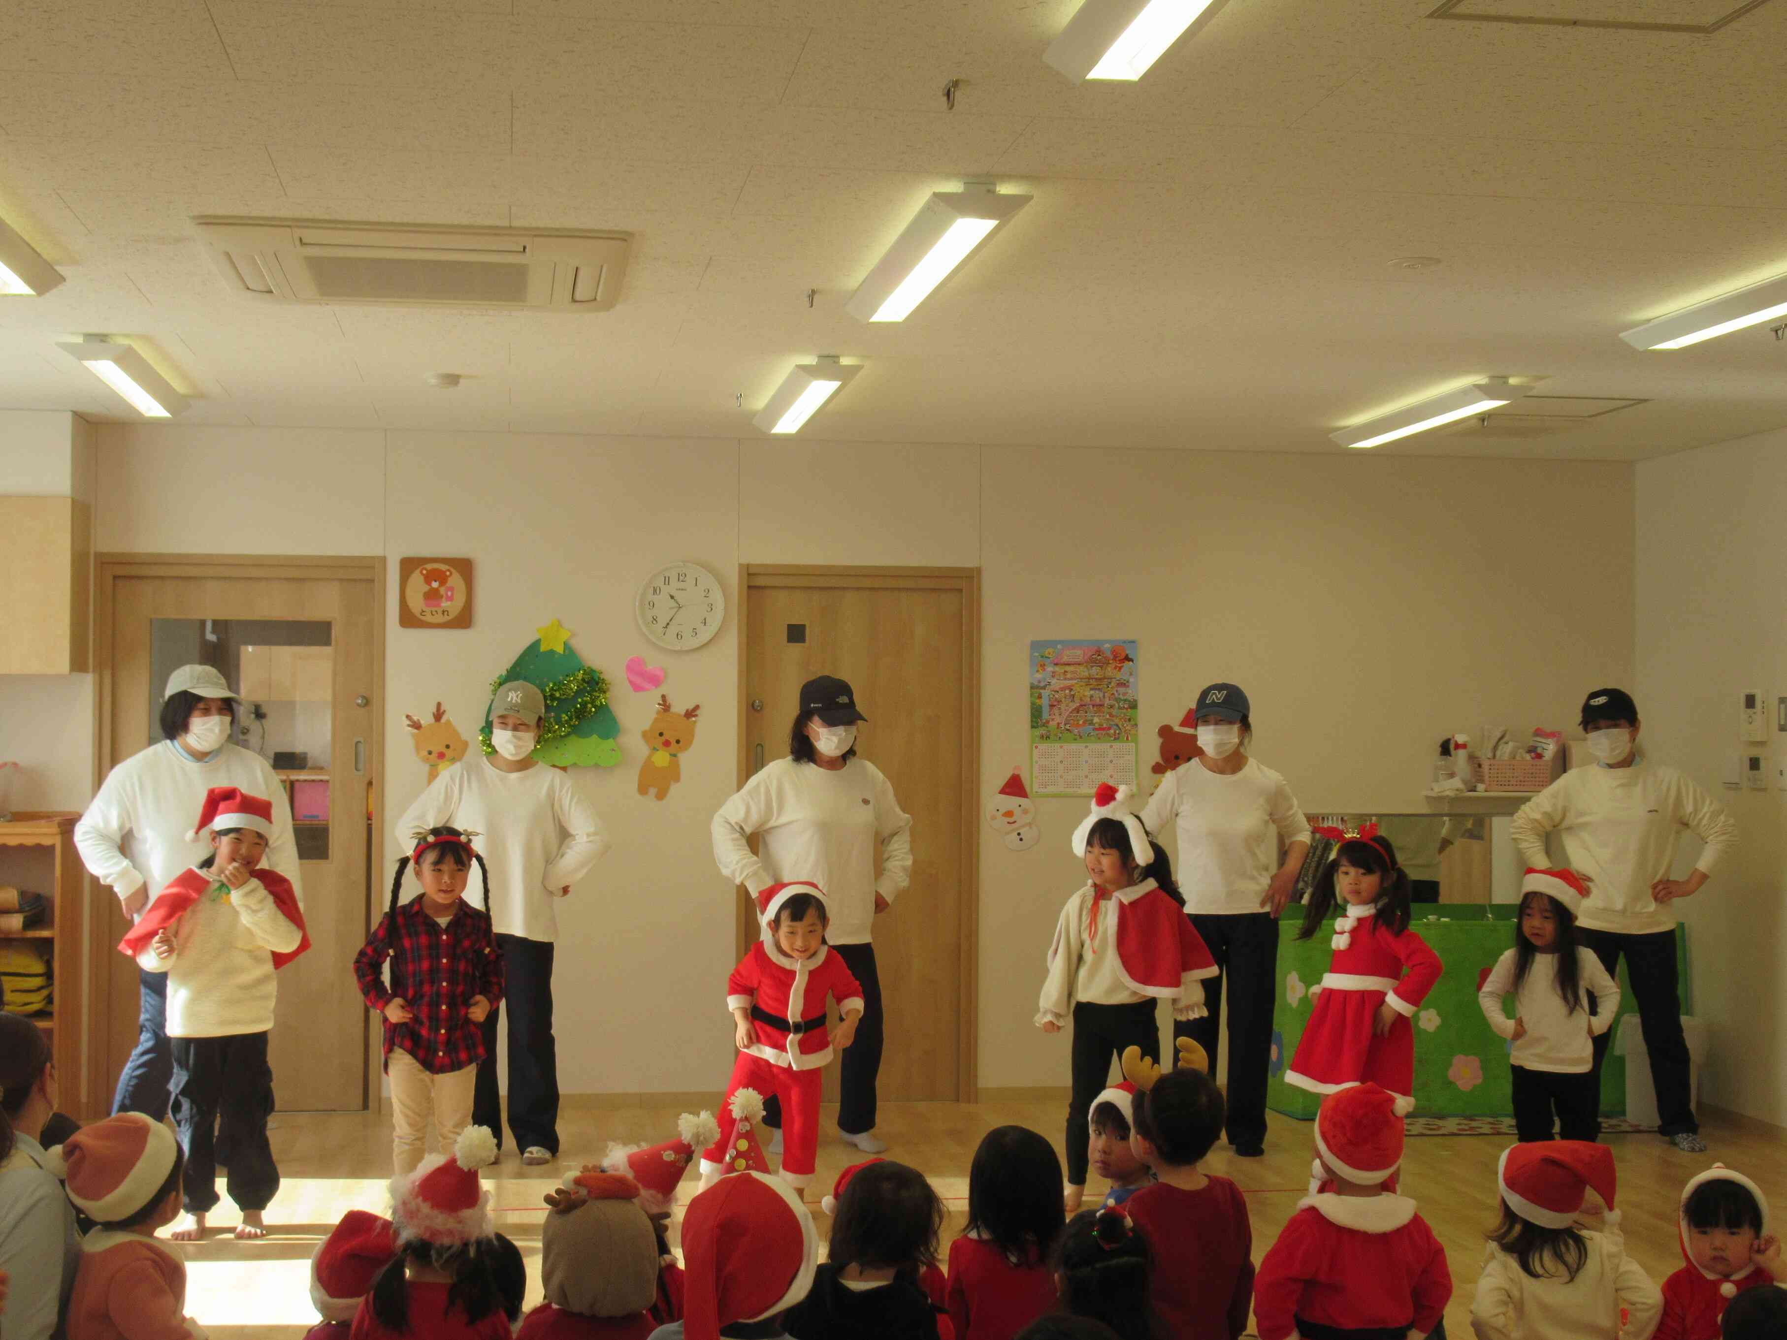
M 740 783 L 788 754 L 801 684 L 851 681 L 858 754 L 911 815 L 911 886 L 876 918 L 883 1101 L 974 1101 L 979 688 L 972 570 L 747 568 Z M 763 704 L 758 708 L 756 704 Z M 740 951 L 758 938 L 740 899 Z M 836 1067 L 826 1074 L 836 1101 Z

